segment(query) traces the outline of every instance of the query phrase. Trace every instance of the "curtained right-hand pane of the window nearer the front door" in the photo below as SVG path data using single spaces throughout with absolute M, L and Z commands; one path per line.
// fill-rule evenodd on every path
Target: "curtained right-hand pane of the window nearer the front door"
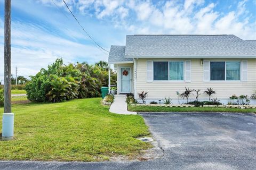
M 183 62 L 169 62 L 170 80 L 183 80 Z

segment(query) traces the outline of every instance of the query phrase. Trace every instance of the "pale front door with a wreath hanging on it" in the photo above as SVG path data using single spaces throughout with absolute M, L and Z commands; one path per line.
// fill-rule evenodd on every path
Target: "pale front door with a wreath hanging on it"
M 130 93 L 131 92 L 131 67 L 121 67 L 121 90 L 120 93 Z

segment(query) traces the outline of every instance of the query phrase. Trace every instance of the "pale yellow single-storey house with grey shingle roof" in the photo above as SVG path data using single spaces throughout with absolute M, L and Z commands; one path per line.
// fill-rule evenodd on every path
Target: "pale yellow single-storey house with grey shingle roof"
M 111 46 L 108 63 L 117 71 L 117 93 L 135 99 L 146 91 L 147 101 L 171 97 L 177 103 L 177 91 L 189 87 L 207 100 L 203 92 L 213 88 L 212 98 L 227 103 L 256 90 L 256 41 L 234 35 L 129 35 L 125 46 Z

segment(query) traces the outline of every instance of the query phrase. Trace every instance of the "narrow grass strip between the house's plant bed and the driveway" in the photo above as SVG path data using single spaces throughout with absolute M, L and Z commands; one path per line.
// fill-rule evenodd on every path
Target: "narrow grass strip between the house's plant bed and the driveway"
M 128 106 L 133 112 L 256 112 L 255 108 Z

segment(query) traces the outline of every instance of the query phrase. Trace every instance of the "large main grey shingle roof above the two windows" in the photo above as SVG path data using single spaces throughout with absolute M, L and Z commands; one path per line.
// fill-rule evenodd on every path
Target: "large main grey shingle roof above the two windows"
M 125 57 L 252 56 L 256 44 L 234 35 L 130 35 Z

